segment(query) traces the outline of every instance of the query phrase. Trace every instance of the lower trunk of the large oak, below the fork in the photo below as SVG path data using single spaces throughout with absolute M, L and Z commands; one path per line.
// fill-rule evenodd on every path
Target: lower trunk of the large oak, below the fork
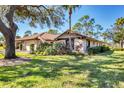
M 16 58 L 15 54 L 15 33 L 11 32 L 5 36 L 6 39 L 6 48 L 5 48 L 5 59 Z

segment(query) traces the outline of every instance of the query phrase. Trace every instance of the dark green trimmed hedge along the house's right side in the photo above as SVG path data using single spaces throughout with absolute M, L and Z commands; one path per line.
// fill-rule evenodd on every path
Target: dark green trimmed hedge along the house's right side
M 88 48 L 89 55 L 103 53 L 106 51 L 110 51 L 110 48 L 107 46 L 95 46 L 95 47 Z

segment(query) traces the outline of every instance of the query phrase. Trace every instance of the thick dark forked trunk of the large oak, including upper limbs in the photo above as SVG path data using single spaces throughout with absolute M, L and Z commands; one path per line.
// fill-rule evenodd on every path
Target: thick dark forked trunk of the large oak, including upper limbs
M 6 40 L 6 49 L 5 49 L 5 59 L 16 58 L 15 54 L 15 35 L 18 29 L 18 26 L 14 23 L 14 12 L 17 6 L 10 6 L 9 11 L 5 14 L 5 17 L 8 21 L 8 26 L 5 25 L 3 20 L 0 18 L 0 31 L 5 37 Z

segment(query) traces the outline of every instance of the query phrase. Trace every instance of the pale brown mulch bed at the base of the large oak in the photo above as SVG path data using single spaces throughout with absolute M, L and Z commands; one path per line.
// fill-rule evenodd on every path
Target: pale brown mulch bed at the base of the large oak
M 31 61 L 30 58 L 0 59 L 0 66 L 14 66 Z

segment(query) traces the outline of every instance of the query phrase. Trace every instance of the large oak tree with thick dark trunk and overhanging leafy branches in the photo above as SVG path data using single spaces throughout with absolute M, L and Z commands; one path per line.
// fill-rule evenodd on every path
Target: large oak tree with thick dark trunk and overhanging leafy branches
M 18 22 L 28 21 L 30 26 L 58 27 L 64 22 L 61 6 L 47 5 L 8 5 L 0 6 L 0 32 L 6 41 L 5 58 L 16 58 L 15 36 Z

